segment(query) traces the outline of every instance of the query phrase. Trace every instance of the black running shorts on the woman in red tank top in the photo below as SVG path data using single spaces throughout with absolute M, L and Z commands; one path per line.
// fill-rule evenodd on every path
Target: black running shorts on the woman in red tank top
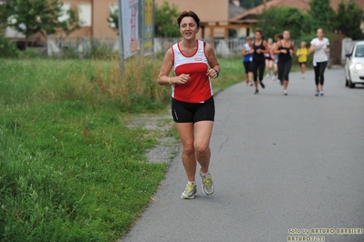
M 186 103 L 172 98 L 172 116 L 176 123 L 213 121 L 215 116 L 213 96 L 203 103 Z

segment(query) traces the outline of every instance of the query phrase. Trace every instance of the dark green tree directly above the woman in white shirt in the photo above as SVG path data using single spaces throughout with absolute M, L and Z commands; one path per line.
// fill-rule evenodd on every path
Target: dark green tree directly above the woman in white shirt
M 324 30 L 331 29 L 335 12 L 330 5 L 330 0 L 311 0 L 309 6 L 313 30 L 316 31 L 319 27 Z

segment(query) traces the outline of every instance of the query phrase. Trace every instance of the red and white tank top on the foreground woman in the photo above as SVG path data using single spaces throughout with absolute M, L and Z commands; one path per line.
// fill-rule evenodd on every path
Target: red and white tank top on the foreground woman
M 204 43 L 197 41 L 197 50 L 192 56 L 182 54 L 179 43 L 172 46 L 173 68 L 176 76 L 190 74 L 186 84 L 172 86 L 172 97 L 187 103 L 201 103 L 213 96 L 210 77 L 206 76 L 209 63 L 204 52 Z

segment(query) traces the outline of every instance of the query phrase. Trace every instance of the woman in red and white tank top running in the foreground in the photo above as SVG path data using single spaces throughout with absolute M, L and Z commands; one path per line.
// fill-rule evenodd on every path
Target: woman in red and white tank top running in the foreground
M 182 140 L 182 163 L 187 175 L 181 197 L 191 199 L 197 192 L 197 163 L 201 166 L 203 193 L 213 194 L 209 165 L 215 109 L 210 78 L 219 76 L 220 65 L 213 46 L 196 39 L 200 18 L 194 12 L 183 11 L 177 23 L 182 41 L 172 45 L 164 56 L 158 83 L 172 86 L 172 116 Z M 172 68 L 175 76 L 169 77 Z

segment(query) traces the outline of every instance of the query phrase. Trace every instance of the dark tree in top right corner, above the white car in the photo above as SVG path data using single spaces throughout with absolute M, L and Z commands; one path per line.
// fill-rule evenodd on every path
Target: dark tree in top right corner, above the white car
M 341 1 L 338 4 L 338 13 L 333 21 L 333 31 L 347 35 L 352 39 L 361 39 L 363 37 L 360 23 L 363 16 L 363 10 L 355 2 Z

